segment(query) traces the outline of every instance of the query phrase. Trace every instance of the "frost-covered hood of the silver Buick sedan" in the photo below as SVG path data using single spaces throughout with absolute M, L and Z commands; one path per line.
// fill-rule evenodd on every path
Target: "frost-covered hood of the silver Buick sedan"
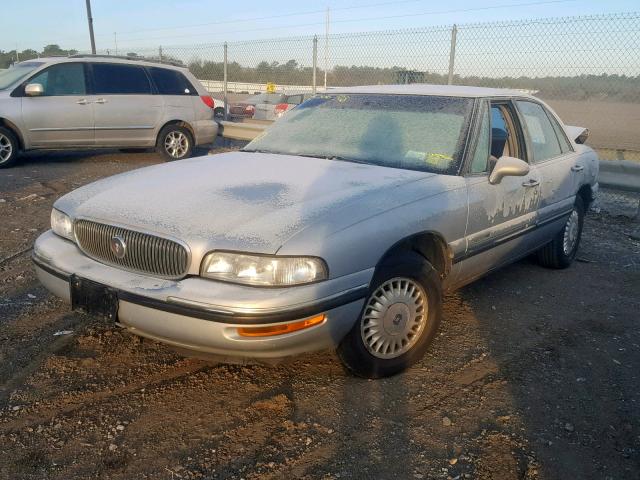
M 431 176 L 342 161 L 232 152 L 116 175 L 65 195 L 55 207 L 73 218 L 174 237 L 194 253 L 275 253 L 328 213 L 381 190 L 391 198 L 393 187 Z

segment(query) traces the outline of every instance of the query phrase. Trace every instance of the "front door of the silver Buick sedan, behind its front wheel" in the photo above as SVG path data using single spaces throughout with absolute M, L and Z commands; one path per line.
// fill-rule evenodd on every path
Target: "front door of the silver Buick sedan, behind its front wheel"
M 529 165 L 525 176 L 489 183 L 500 156 L 527 161 L 523 131 L 512 102 L 482 101 L 476 124 L 474 153 L 465 172 L 469 215 L 466 252 L 460 259 L 463 283 L 528 250 L 527 234 L 535 228 L 540 199 L 540 175 L 535 165 Z

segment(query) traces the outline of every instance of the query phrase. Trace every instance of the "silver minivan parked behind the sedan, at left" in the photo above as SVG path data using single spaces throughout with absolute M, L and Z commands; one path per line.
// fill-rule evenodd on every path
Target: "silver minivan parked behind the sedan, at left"
M 28 60 L 0 72 L 0 168 L 35 149 L 152 148 L 191 155 L 218 133 L 214 100 L 186 68 L 110 56 Z

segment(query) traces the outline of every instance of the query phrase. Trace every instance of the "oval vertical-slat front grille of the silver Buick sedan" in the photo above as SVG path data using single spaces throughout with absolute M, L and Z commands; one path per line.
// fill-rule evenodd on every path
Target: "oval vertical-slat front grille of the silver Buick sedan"
M 165 278 L 187 273 L 189 253 L 173 240 L 89 220 L 76 221 L 74 229 L 82 251 L 100 262 Z M 114 237 L 120 237 L 126 245 L 122 258 L 111 249 Z

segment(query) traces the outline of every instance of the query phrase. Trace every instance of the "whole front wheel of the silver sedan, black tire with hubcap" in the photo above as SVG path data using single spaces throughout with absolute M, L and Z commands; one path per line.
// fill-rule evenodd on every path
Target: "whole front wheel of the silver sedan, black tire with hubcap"
M 417 303 L 413 303 L 414 295 L 402 296 L 402 292 L 410 291 L 411 287 L 415 288 L 418 298 L 422 298 L 421 312 Z M 382 291 L 386 292 L 386 297 L 381 296 Z M 378 313 L 372 306 L 382 307 L 384 313 Z M 344 366 L 359 377 L 395 375 L 424 356 L 438 330 L 441 316 L 442 286 L 438 272 L 417 253 L 394 255 L 384 261 L 374 275 L 360 318 L 338 346 L 338 356 Z M 410 328 L 412 323 L 413 329 Z M 377 328 L 387 343 L 374 340 Z

